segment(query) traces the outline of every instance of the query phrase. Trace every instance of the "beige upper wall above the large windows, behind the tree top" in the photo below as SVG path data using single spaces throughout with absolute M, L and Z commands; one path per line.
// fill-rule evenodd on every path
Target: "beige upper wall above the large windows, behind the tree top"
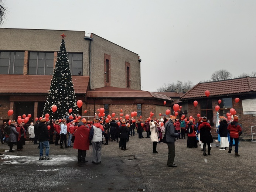
M 89 75 L 89 41 L 84 31 L 0 28 L 0 50 L 59 51 L 62 33 L 67 52 L 83 53 L 83 75 Z

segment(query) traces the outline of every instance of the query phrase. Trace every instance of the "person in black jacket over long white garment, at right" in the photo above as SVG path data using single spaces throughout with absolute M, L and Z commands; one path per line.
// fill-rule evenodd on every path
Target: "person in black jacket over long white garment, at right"
M 221 137 L 221 148 L 219 150 L 228 150 L 228 123 L 224 117 L 219 118 L 221 122 L 219 123 L 219 136 Z

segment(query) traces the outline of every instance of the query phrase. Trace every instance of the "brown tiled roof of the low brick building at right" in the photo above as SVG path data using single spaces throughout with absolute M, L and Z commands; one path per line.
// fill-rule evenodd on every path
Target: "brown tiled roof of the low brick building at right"
M 181 96 L 181 99 L 206 97 L 204 92 L 209 90 L 210 96 L 229 95 L 236 93 L 256 92 L 256 78 L 245 77 L 228 79 L 214 82 L 198 83 L 188 92 Z

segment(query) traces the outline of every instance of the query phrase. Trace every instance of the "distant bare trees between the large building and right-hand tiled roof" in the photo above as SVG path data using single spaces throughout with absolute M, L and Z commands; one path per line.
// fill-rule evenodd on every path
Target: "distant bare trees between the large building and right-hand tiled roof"
M 180 80 L 177 80 L 176 83 L 168 83 L 166 85 L 165 83 L 163 86 L 157 89 L 158 92 L 164 92 L 164 91 L 174 91 L 175 89 L 179 89 L 179 92 L 182 92 L 182 89 L 191 89 L 194 86 L 194 84 L 189 80 L 187 82 L 182 82 Z

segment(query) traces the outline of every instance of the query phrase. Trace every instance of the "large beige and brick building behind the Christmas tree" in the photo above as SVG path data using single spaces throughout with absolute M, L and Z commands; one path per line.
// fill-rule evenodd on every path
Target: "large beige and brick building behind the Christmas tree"
M 57 52 L 64 33 L 76 99 L 82 116 L 93 116 L 104 107 L 149 117 L 162 113 L 173 101 L 158 93 L 140 90 L 139 55 L 95 34 L 84 31 L 0 28 L 0 124 L 31 114 L 40 117 L 50 89 Z M 163 101 L 167 104 L 163 106 Z M 170 107 L 169 107 L 170 108 Z M 9 109 L 14 114 L 7 116 Z M 88 113 L 84 114 L 83 111 Z M 107 114 L 106 113 L 106 114 Z M 156 116 L 156 115 L 155 115 Z

